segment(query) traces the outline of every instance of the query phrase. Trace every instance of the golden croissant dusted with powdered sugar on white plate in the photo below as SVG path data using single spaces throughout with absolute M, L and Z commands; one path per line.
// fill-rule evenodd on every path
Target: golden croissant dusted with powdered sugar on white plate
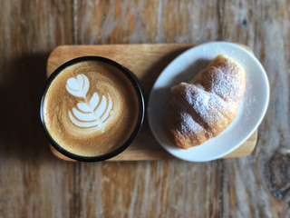
M 236 118 L 245 88 L 244 68 L 224 54 L 218 55 L 189 83 L 171 88 L 164 133 L 182 149 L 216 137 Z

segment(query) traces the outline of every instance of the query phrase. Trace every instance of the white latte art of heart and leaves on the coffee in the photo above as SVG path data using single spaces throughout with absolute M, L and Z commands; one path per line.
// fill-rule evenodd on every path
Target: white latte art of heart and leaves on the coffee
M 76 78 L 69 78 L 66 82 L 66 90 L 76 97 L 82 97 L 84 102 L 77 104 L 77 108 L 69 111 L 69 117 L 73 124 L 88 128 L 104 124 L 112 109 L 111 96 L 108 94 L 108 100 L 105 95 L 102 95 L 100 102 L 99 94 L 92 94 L 91 100 L 87 99 L 87 93 L 90 88 L 90 81 L 84 74 L 78 74 Z

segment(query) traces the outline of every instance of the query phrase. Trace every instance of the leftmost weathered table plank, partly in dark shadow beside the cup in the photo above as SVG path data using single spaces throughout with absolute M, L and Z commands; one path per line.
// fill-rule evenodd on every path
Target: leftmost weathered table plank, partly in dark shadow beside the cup
M 71 3 L 0 8 L 0 217 L 73 216 L 74 166 L 50 154 L 38 115 L 47 57 L 73 43 Z

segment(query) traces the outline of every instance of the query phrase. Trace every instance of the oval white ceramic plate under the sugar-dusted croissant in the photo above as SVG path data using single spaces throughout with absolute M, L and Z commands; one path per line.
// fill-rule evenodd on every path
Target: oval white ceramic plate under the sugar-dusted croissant
M 170 97 L 170 87 L 188 82 L 218 54 L 226 54 L 241 64 L 247 74 L 246 92 L 237 117 L 227 129 L 204 144 L 183 150 L 172 143 L 162 131 L 163 116 Z M 266 114 L 269 82 L 263 66 L 245 48 L 226 42 L 212 42 L 190 48 L 173 60 L 152 87 L 148 117 L 152 133 L 172 155 L 190 162 L 205 162 L 231 153 L 254 133 Z

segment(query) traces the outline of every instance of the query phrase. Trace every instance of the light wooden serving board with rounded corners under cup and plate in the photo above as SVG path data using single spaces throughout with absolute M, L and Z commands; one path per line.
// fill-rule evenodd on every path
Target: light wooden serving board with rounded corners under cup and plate
M 193 46 L 195 45 L 62 45 L 56 47 L 48 58 L 47 76 L 52 74 L 61 64 L 73 58 L 85 55 L 104 56 L 129 68 L 137 76 L 144 94 L 146 107 L 150 89 L 165 66 L 176 56 Z M 249 50 L 248 47 L 246 48 Z M 256 146 L 256 139 L 257 131 L 244 144 L 240 145 L 237 150 L 227 154 L 223 158 L 238 158 L 250 154 Z M 59 158 L 71 160 L 63 156 L 63 154 L 59 154 L 53 146 L 51 148 L 53 154 Z M 156 141 L 153 134 L 151 134 L 147 114 L 145 114 L 140 134 L 123 153 L 111 158 L 110 161 L 160 160 L 169 158 L 174 157 L 164 150 Z

